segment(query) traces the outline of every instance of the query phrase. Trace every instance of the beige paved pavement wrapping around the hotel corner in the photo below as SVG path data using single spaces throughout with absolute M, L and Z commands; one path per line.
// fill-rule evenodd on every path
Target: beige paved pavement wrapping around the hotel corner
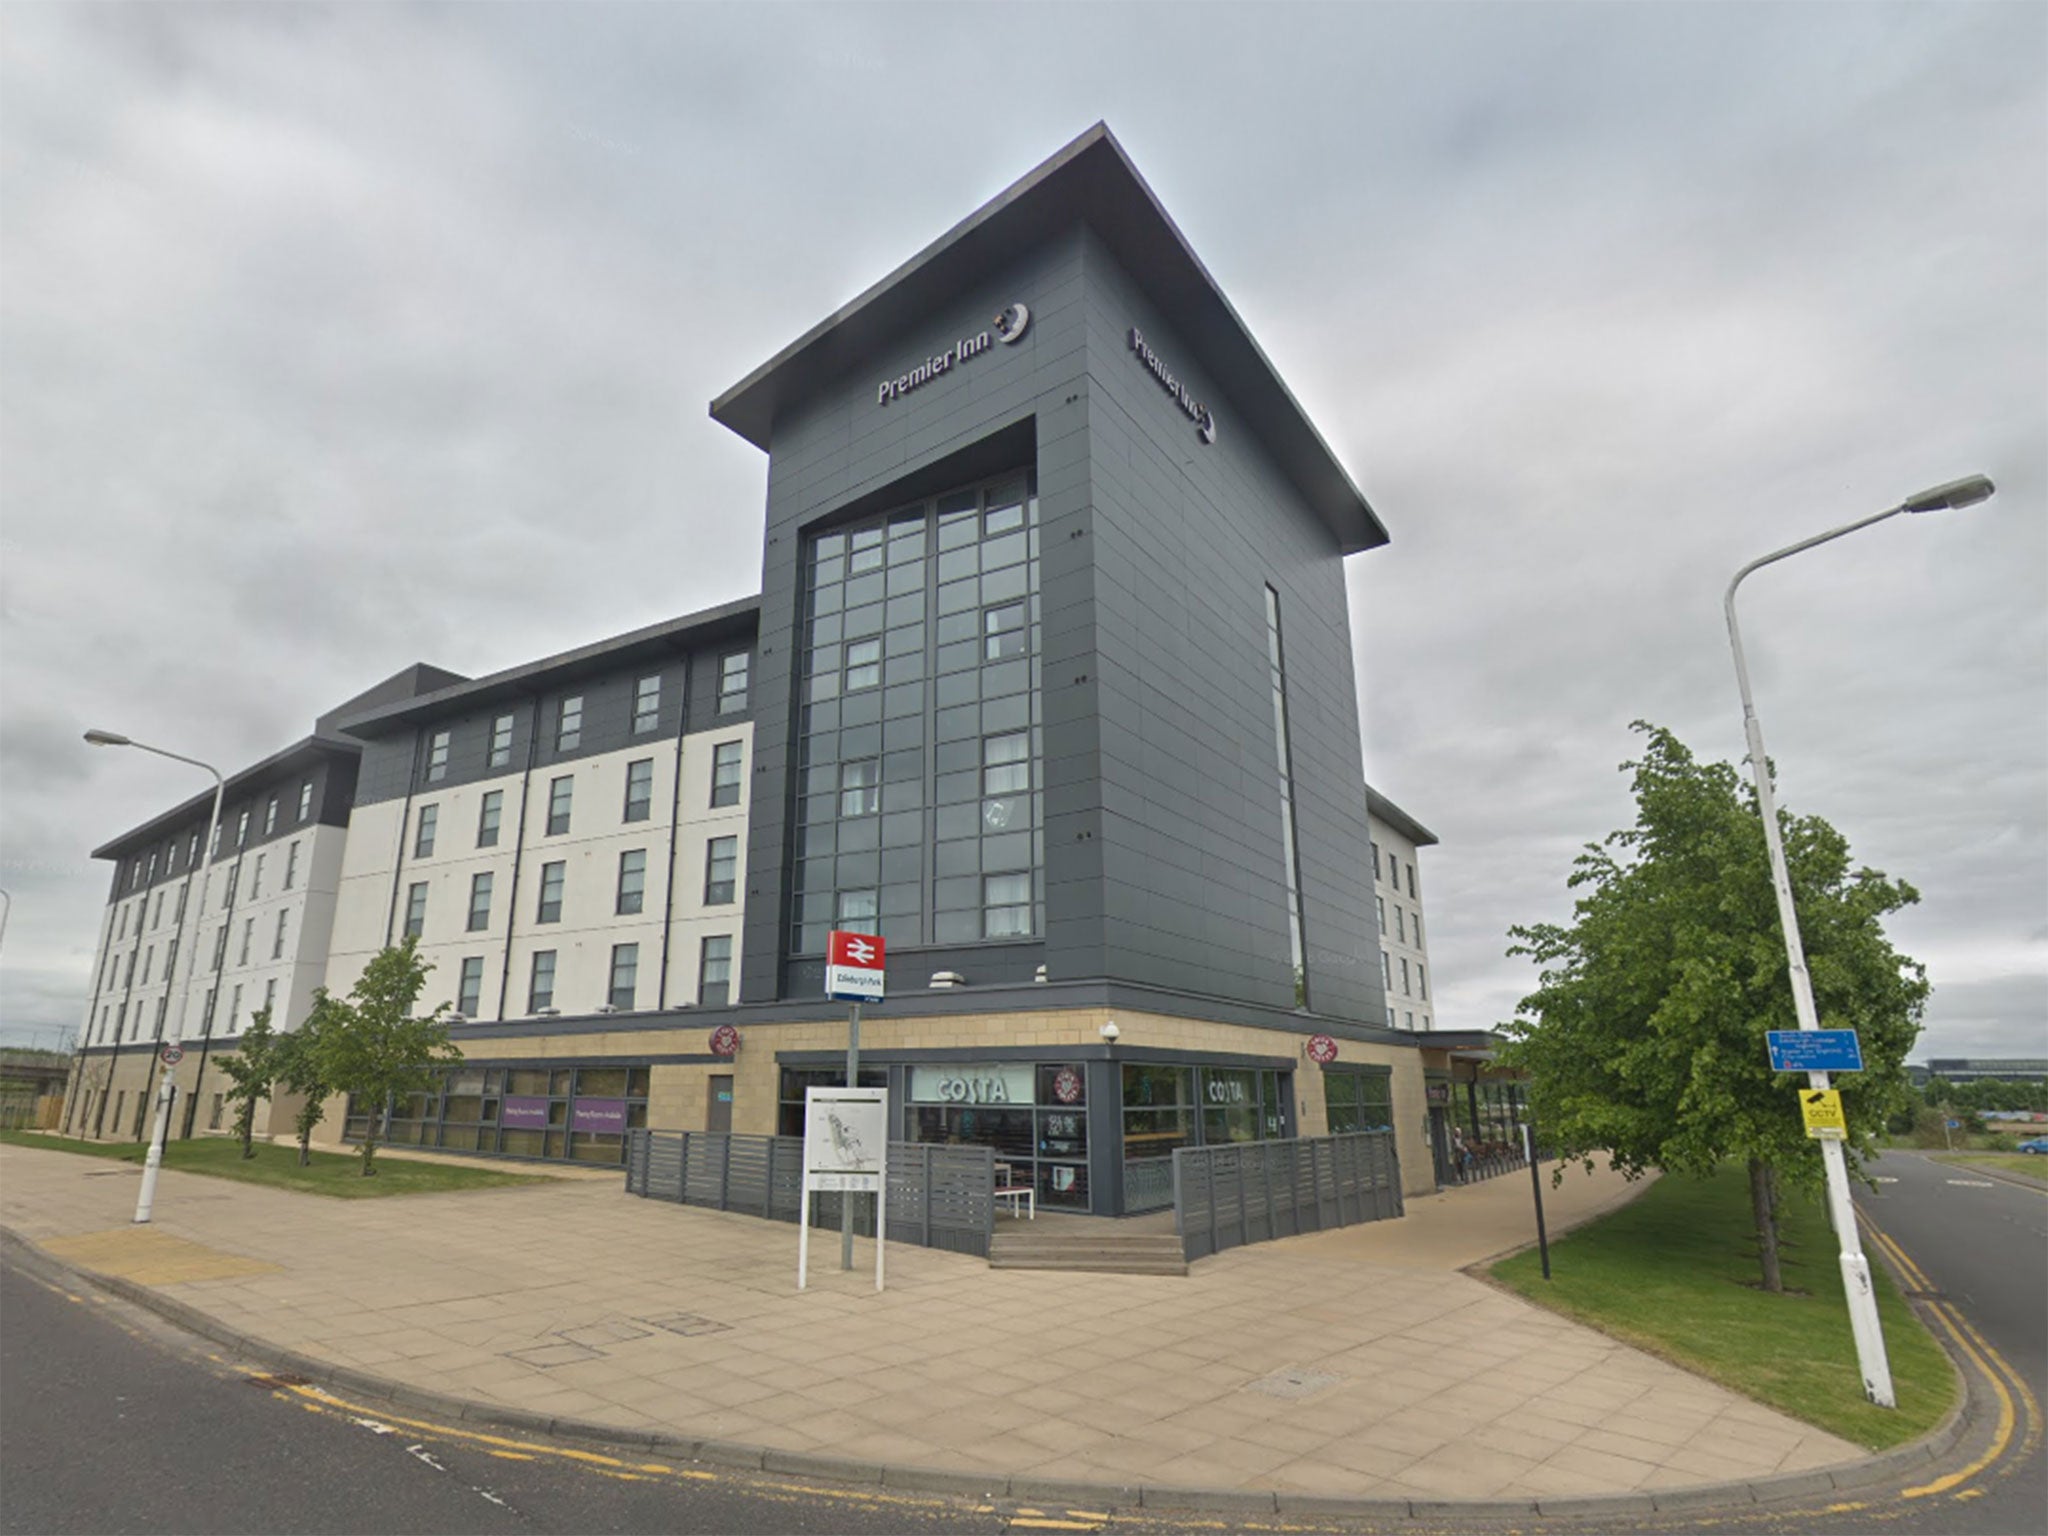
M 627 1196 L 616 1176 L 328 1200 L 166 1169 L 150 1227 L 131 1225 L 135 1178 L 0 1147 L 0 1225 L 336 1395 L 670 1456 L 1280 1511 L 1647 1509 L 1872 1466 L 1464 1274 L 1532 1239 L 1522 1178 L 1186 1278 L 893 1243 L 881 1294 L 866 1241 L 842 1272 L 838 1233 L 813 1233 L 799 1292 L 795 1227 Z M 1634 1192 L 1606 1169 L 1546 1180 L 1550 1229 Z

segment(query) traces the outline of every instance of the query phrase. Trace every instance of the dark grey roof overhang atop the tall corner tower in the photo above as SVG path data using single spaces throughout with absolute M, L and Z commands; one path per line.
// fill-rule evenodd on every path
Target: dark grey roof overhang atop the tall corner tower
M 1386 528 L 1280 381 L 1223 289 L 1139 176 L 1108 125 L 1096 123 L 1008 190 L 807 330 L 715 401 L 711 418 L 768 449 L 784 403 L 868 367 L 934 307 L 1020 250 L 1087 225 L 1223 381 L 1233 416 L 1317 510 L 1346 555 L 1386 543 Z

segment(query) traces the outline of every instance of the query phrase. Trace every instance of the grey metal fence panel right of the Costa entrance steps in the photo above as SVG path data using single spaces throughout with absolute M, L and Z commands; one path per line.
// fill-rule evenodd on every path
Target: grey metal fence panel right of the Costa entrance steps
M 1401 1208 L 1401 1159 L 1391 1130 L 1174 1153 L 1174 1229 L 1190 1260 L 1384 1221 Z

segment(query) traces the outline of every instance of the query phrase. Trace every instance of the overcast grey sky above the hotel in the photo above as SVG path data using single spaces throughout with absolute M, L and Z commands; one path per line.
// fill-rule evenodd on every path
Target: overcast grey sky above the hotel
M 106 866 L 410 662 L 756 592 L 707 401 L 1106 119 L 1393 545 L 1366 766 L 1440 1026 L 1534 985 L 1636 717 L 1921 891 L 1919 1057 L 2048 1053 L 2048 8 L 33 6 L 0 16 L 0 1028 Z

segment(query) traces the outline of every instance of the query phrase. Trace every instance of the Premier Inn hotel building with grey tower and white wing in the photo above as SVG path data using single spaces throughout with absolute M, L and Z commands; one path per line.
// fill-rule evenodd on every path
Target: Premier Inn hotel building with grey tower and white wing
M 209 885 L 170 897 L 188 1057 L 414 934 L 467 1065 L 393 1141 L 616 1161 L 641 1124 L 786 1133 L 842 1079 L 823 952 L 850 928 L 887 940 L 862 1079 L 895 1135 L 991 1143 L 1049 1208 L 1167 1204 L 1176 1147 L 1389 1124 L 1432 1188 L 1427 1090 L 1479 1040 L 1423 1032 L 1419 948 L 1423 1030 L 1413 991 L 1389 1008 L 1343 580 L 1386 530 L 1108 129 L 711 416 L 768 457 L 760 596 L 479 680 L 414 668 L 231 780 Z M 250 909 L 281 895 L 274 805 L 307 827 L 299 922 Z M 193 883 L 205 809 L 98 850 L 76 1128 L 141 1126 L 178 1028 L 125 975 L 178 934 L 135 909 Z M 201 1130 L 223 1087 L 197 1081 Z

